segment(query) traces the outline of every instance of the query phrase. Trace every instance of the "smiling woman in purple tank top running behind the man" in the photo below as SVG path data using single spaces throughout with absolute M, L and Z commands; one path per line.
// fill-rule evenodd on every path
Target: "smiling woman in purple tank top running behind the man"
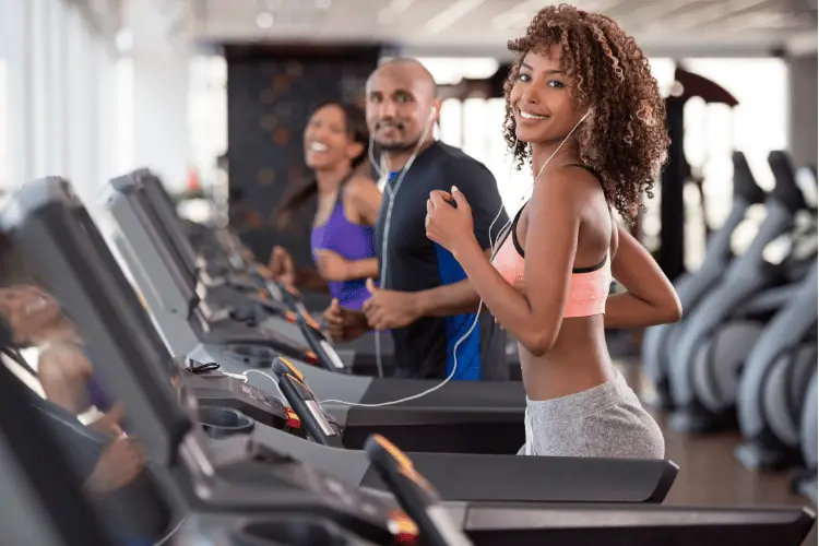
M 281 247 L 273 249 L 270 269 L 292 288 L 329 290 L 342 307 L 361 310 L 370 293 L 366 280 L 378 276 L 375 225 L 381 205 L 376 182 L 357 174 L 367 156 L 369 132 L 364 112 L 352 105 L 321 105 L 305 129 L 305 162 L 313 178 L 284 199 L 277 225 L 318 194 L 310 248 L 318 272 L 297 270 Z

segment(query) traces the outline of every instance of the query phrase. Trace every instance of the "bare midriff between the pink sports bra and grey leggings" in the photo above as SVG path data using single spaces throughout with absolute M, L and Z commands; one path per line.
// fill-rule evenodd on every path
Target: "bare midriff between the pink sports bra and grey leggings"
M 603 332 L 603 314 L 563 319 L 551 349 L 536 357 L 518 344 L 530 400 L 551 400 L 615 378 Z

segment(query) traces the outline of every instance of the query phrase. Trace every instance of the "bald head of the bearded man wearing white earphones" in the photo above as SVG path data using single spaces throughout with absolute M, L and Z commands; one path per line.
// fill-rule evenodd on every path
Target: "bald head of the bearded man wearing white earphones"
M 435 78 L 416 59 L 390 59 L 367 80 L 367 124 L 387 152 L 414 149 L 425 129 L 431 135 L 439 110 Z

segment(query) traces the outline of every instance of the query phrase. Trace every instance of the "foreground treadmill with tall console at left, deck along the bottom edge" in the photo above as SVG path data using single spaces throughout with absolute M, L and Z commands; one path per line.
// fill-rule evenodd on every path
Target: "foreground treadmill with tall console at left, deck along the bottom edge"
M 168 380 L 174 370 L 167 353 L 155 351 L 161 342 L 145 336 L 151 324 L 136 295 L 121 272 L 106 271 L 114 262 L 110 253 L 109 263 L 98 263 L 82 252 L 102 239 L 68 190 L 60 179 L 27 185 L 0 214 L 0 226 L 76 321 L 92 358 L 99 363 L 102 380 L 128 408 L 129 427 L 167 471 L 167 485 L 193 512 L 191 532 L 221 527 L 225 544 L 282 546 L 412 544 L 418 538 L 436 546 L 510 541 L 558 546 L 727 541 L 796 546 L 815 522 L 811 512 L 793 508 L 443 502 L 428 486 L 418 459 L 372 438 L 366 456 L 396 500 L 329 476 L 280 449 L 286 447 L 260 441 L 256 431 L 212 439 L 194 417 L 195 399 Z M 72 212 L 83 215 L 83 222 L 72 222 Z M 58 226 L 62 229 L 55 229 Z M 13 399 L 3 395 L 0 401 Z M 14 410 L 0 414 L 0 426 L 20 418 Z M 57 450 L 54 454 L 59 456 Z M 583 472 L 577 468 L 571 477 L 581 478 Z

